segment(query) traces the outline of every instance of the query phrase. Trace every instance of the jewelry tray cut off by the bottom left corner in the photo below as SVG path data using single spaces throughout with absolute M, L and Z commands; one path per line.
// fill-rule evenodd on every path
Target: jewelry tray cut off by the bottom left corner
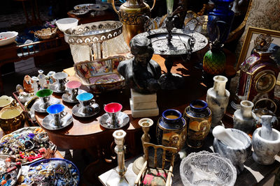
M 15 157 L 10 157 L 10 155 L 0 155 L 1 185 L 13 186 L 20 178 L 22 166 L 20 162 L 15 162 L 15 160 Z

